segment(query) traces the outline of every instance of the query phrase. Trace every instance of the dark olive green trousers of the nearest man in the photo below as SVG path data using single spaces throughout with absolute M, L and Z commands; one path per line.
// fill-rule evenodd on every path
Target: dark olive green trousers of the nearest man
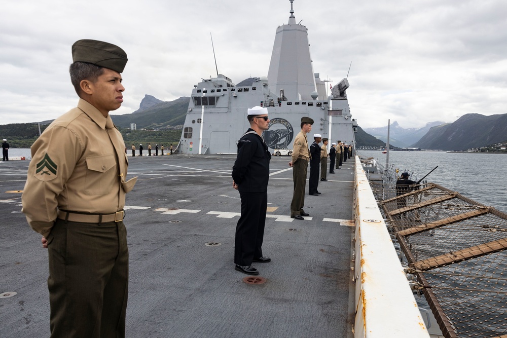
M 47 239 L 51 338 L 125 337 L 128 248 L 123 222 L 57 219 Z

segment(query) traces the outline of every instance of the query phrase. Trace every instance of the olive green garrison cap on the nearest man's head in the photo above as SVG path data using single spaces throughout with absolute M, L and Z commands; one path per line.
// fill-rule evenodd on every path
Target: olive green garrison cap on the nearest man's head
M 72 45 L 72 60 L 121 73 L 128 59 L 127 53 L 116 45 L 97 40 L 79 40 Z

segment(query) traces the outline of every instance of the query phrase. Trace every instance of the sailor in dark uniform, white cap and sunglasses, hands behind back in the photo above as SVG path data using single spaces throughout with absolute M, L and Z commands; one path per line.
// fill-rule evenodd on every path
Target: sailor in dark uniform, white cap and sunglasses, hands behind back
M 235 270 L 247 275 L 259 275 L 252 261 L 267 263 L 262 255 L 262 242 L 268 206 L 269 161 L 271 154 L 262 138 L 268 130 L 268 109 L 255 106 L 248 109 L 250 128 L 238 142 L 238 156 L 232 167 L 232 186 L 241 196 L 241 216 L 236 226 L 234 247 Z

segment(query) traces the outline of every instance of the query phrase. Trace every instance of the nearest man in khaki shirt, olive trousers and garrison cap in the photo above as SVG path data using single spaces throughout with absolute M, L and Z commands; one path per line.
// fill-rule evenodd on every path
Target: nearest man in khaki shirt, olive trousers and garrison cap
M 72 46 L 78 106 L 31 147 L 22 195 L 49 256 L 51 337 L 124 337 L 128 294 L 128 181 L 122 135 L 109 111 L 123 102 L 126 53 L 95 40 Z

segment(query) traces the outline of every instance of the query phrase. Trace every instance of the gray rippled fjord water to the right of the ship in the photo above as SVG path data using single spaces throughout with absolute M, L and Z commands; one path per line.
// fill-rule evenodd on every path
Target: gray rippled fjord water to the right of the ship
M 360 155 L 378 159 L 385 164 L 386 154 L 380 151 L 362 151 Z M 424 180 L 445 186 L 461 195 L 499 211 L 507 212 L 507 181 L 503 168 L 507 154 L 446 153 L 446 152 L 389 152 L 389 163 L 400 169 L 400 174 L 412 170 L 418 180 L 439 166 Z

